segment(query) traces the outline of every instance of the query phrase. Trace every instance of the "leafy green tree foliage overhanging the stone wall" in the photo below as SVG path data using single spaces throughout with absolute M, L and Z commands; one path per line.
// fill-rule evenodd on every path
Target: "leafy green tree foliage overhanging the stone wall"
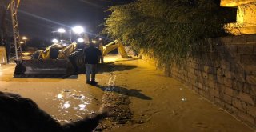
M 226 12 L 216 0 L 138 0 L 111 6 L 103 34 L 140 48 L 159 64 L 186 58 L 190 45 L 222 36 Z

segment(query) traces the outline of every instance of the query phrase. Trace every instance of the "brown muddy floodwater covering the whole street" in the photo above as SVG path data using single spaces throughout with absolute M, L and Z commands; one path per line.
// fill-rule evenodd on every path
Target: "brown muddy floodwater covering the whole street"
M 15 65 L 0 66 L 0 91 L 33 99 L 61 123 L 110 110 L 112 117 L 95 131 L 254 131 L 181 82 L 165 77 L 152 63 L 117 56 L 106 62 L 99 66 L 98 86 L 86 85 L 83 74 L 65 79 L 12 78 Z

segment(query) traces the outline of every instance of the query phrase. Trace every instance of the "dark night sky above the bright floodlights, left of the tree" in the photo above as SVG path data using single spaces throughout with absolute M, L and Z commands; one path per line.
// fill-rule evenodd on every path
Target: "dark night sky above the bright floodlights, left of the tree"
M 110 14 L 109 6 L 134 0 L 21 0 L 18 12 L 20 35 L 52 39 L 52 31 L 60 27 L 80 25 L 98 33 L 97 27 Z M 66 27 L 65 27 L 66 26 Z

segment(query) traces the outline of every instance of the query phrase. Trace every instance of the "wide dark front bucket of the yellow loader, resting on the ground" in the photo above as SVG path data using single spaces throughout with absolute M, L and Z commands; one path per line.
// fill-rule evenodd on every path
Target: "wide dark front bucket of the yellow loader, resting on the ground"
M 66 78 L 74 73 L 68 59 L 15 61 L 14 78 Z

